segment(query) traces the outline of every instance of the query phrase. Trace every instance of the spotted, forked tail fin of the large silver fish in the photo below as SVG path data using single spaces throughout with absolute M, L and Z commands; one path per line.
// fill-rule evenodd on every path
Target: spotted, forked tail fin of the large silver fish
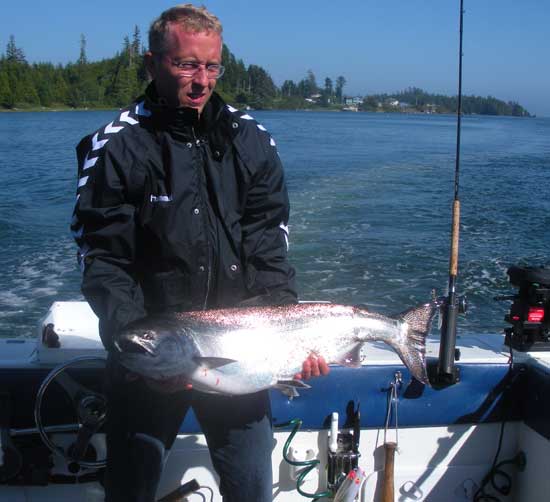
M 433 301 L 399 314 L 397 319 L 407 323 L 407 331 L 404 338 L 390 341 L 411 374 L 426 385 L 430 383 L 426 370 L 426 337 L 437 309 L 438 304 Z

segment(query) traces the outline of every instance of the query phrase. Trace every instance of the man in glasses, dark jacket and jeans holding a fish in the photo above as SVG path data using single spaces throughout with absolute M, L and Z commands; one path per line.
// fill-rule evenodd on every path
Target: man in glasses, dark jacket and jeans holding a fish
M 153 385 L 117 362 L 117 332 L 149 313 L 296 302 L 288 197 L 275 143 L 215 94 L 222 27 L 205 8 L 151 25 L 145 96 L 77 147 L 72 230 L 82 291 L 109 351 L 107 501 L 153 501 L 190 406 L 226 501 L 272 498 L 267 392 L 230 397 Z M 261 340 L 258 340 L 261 343 Z M 309 378 L 328 367 L 304 362 Z

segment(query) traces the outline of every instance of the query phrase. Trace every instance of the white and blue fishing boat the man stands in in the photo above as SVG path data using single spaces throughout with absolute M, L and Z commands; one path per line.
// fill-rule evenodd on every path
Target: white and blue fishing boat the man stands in
M 509 274 L 511 327 L 461 333 L 453 382 L 437 381 L 431 336 L 431 386 L 369 343 L 359 369 L 335 366 L 299 397 L 272 391 L 273 500 L 334 495 L 350 472 L 362 502 L 548 500 L 550 270 Z M 105 357 L 86 302 L 55 302 L 34 338 L 0 340 L 1 501 L 103 500 Z M 221 501 L 217 481 L 190 412 L 158 500 Z

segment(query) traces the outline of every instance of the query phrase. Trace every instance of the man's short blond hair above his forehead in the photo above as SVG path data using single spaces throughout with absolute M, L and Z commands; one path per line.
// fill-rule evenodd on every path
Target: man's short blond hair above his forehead
M 151 23 L 149 28 L 149 50 L 151 52 L 164 52 L 166 33 L 171 23 L 192 32 L 213 31 L 221 36 L 223 31 L 220 20 L 204 5 L 201 7 L 190 3 L 176 5 L 165 10 Z

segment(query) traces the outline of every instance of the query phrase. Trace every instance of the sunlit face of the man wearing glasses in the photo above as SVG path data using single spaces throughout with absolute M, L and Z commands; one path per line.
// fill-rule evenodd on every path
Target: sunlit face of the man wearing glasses
M 147 68 L 155 80 L 157 92 L 170 106 L 195 108 L 199 113 L 210 99 L 216 79 L 209 78 L 204 65 L 221 64 L 222 40 L 215 32 L 190 32 L 170 25 L 166 34 L 166 50 L 145 56 Z M 183 76 L 174 63 L 202 63 L 192 77 Z

